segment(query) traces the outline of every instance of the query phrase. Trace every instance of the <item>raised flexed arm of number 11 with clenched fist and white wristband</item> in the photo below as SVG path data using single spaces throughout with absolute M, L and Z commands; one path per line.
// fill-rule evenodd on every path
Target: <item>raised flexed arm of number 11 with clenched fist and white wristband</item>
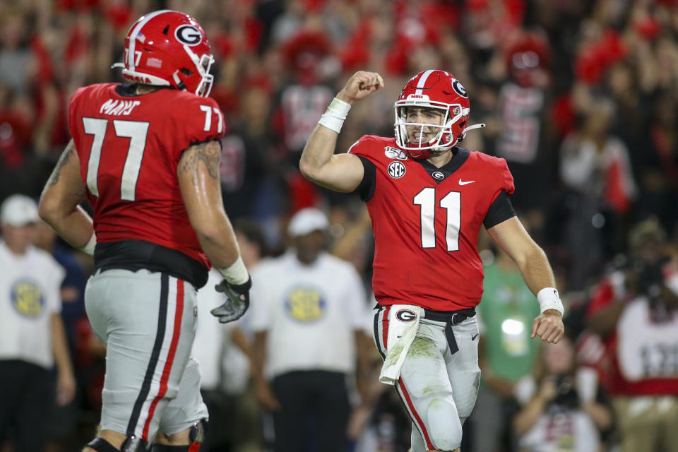
M 352 154 L 335 154 L 337 137 L 350 106 L 383 87 L 376 72 L 358 71 L 347 81 L 323 114 L 304 146 L 299 170 L 316 184 L 344 193 L 357 189 L 364 169 Z

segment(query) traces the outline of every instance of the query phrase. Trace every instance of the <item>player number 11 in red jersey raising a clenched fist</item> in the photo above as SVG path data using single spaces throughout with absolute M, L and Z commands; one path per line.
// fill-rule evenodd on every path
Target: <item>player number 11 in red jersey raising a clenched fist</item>
M 348 153 L 334 154 L 351 105 L 382 86 L 378 73 L 355 73 L 311 133 L 299 165 L 311 181 L 366 201 L 376 244 L 380 380 L 396 386 L 410 412 L 412 452 L 458 451 L 480 382 L 480 226 L 537 295 L 542 313 L 533 338 L 560 340 L 563 305 L 544 251 L 513 212 L 506 161 L 458 145 L 478 126 L 468 127 L 468 94 L 450 73 L 423 71 L 408 81 L 395 104 L 395 138 L 363 136 Z

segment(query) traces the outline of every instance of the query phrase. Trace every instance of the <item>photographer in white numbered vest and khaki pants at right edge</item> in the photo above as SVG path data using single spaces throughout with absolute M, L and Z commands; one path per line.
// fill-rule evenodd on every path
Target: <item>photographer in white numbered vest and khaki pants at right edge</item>
M 593 292 L 588 326 L 605 349 L 591 353 L 590 339 L 587 359 L 612 397 L 622 451 L 672 450 L 678 445 L 669 427 L 677 422 L 678 372 L 674 355 L 662 350 L 678 344 L 675 264 L 667 261 L 671 248 L 656 220 L 634 226 L 629 249 L 628 263 Z

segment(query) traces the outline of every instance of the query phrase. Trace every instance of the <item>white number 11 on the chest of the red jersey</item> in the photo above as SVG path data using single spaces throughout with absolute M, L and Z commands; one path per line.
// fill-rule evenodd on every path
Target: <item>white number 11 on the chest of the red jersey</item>
M 427 186 L 413 198 L 415 206 L 421 206 L 422 248 L 436 247 L 436 189 Z M 447 213 L 445 241 L 447 251 L 459 251 L 459 228 L 461 226 L 461 193 L 450 191 L 440 200 Z

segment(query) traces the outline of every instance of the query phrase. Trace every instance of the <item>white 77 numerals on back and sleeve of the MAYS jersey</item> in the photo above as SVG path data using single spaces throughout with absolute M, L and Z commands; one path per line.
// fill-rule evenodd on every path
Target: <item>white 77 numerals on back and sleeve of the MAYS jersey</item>
M 209 131 L 212 128 L 212 110 L 218 116 L 217 133 L 221 133 L 224 126 L 222 113 L 216 107 L 201 105 L 200 109 L 205 113 L 205 126 L 203 131 Z M 88 135 L 94 135 L 92 149 L 90 150 L 90 160 L 87 164 L 87 188 L 94 196 L 99 196 L 99 187 L 97 186 L 97 177 L 99 175 L 99 163 L 101 161 L 101 148 L 106 136 L 108 119 L 86 118 L 83 117 L 83 129 Z M 120 177 L 120 198 L 124 201 L 134 201 L 136 198 L 136 181 L 141 171 L 141 160 L 143 160 L 143 151 L 146 147 L 146 135 L 148 134 L 150 122 L 143 121 L 124 121 L 121 119 L 113 120 L 113 129 L 115 135 L 129 138 L 129 148 L 125 165 Z

